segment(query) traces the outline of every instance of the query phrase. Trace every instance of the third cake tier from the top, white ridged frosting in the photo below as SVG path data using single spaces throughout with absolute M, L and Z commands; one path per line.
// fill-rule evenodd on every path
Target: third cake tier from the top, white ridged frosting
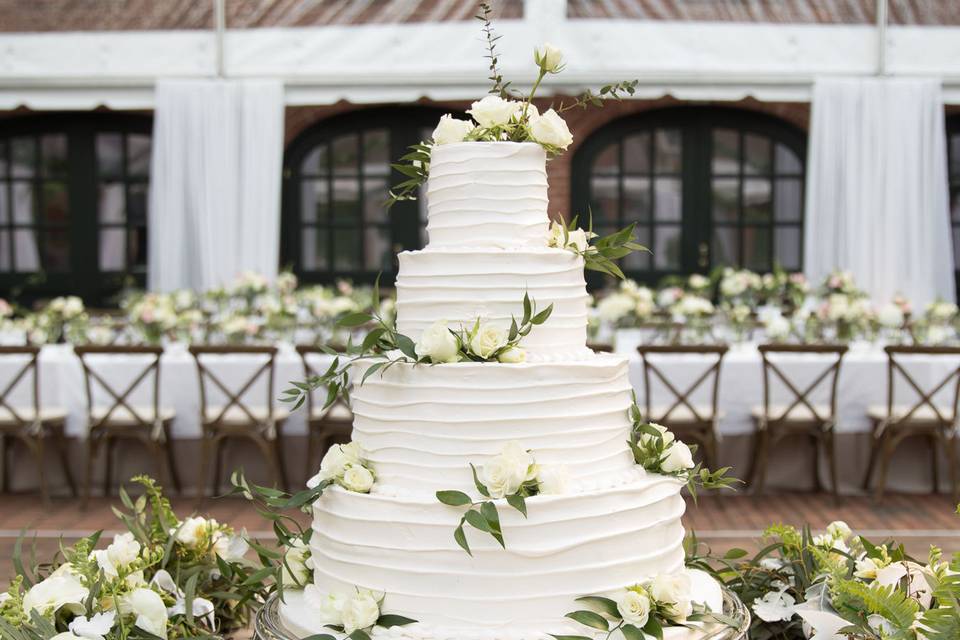
M 479 465 L 511 440 L 576 483 L 616 481 L 635 467 L 627 446 L 630 383 L 609 354 L 565 363 L 396 365 L 353 393 L 353 439 L 379 490 L 474 493 Z M 390 488 L 390 489 L 387 489 Z

